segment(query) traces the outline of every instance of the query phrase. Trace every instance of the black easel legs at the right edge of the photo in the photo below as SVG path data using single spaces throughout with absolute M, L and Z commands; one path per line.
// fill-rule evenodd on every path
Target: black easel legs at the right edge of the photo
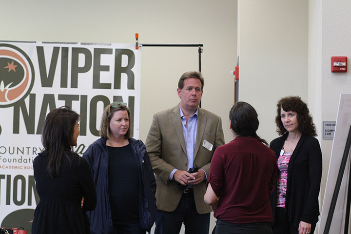
M 330 230 L 330 227 L 331 227 L 332 216 L 334 214 L 337 197 L 339 195 L 340 186 L 341 186 L 342 178 L 343 178 L 345 167 L 346 167 L 346 162 L 347 162 L 347 159 L 348 159 L 348 156 L 349 156 L 349 152 L 350 152 L 350 146 L 351 146 L 351 126 L 350 126 L 350 129 L 349 129 L 348 138 L 346 140 L 344 154 L 343 154 L 343 157 L 342 157 L 342 160 L 341 160 L 339 174 L 338 174 L 338 177 L 336 179 L 334 193 L 333 193 L 333 196 L 331 198 L 331 205 L 330 205 L 330 208 L 329 208 L 329 213 L 328 213 L 326 226 L 324 228 L 323 234 L 329 234 L 329 230 Z M 349 231 L 350 204 L 351 204 L 351 167 L 350 167 L 350 172 L 349 172 L 349 186 L 348 186 L 347 206 L 346 206 L 346 214 L 345 214 L 344 234 L 348 234 L 348 231 Z

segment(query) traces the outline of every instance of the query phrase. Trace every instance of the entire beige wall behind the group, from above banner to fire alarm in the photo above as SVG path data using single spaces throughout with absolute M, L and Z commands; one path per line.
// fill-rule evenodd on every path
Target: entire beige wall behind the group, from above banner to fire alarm
M 335 120 L 340 93 L 351 92 L 350 72 L 330 72 L 331 56 L 351 56 L 349 0 L 14 0 L 1 9 L 0 40 L 133 43 L 137 32 L 140 43 L 203 43 L 202 107 L 222 117 L 226 142 L 238 54 L 239 100 L 257 110 L 261 137 L 277 137 L 279 98 L 308 102 L 323 151 L 323 197 L 332 141 L 321 139 L 322 121 Z M 178 103 L 180 75 L 197 68 L 196 47 L 142 48 L 140 139 L 155 112 Z

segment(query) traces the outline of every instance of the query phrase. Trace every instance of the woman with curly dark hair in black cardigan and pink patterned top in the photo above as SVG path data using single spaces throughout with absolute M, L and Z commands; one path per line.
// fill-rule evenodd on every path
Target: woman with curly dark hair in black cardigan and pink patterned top
M 270 202 L 273 234 L 313 234 L 319 216 L 322 152 L 310 111 L 300 97 L 281 98 L 271 142 L 278 176 Z

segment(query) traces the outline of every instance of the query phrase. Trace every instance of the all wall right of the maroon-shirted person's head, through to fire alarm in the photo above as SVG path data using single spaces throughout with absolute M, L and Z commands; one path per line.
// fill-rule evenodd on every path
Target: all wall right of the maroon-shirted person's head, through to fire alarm
M 308 102 L 323 153 L 322 203 L 332 140 L 322 121 L 335 121 L 340 93 L 351 92 L 350 71 L 331 73 L 331 56 L 351 54 L 349 0 L 239 0 L 240 100 L 254 105 L 259 133 L 271 140 L 275 103 L 287 95 Z M 350 68 L 349 68 L 350 70 Z

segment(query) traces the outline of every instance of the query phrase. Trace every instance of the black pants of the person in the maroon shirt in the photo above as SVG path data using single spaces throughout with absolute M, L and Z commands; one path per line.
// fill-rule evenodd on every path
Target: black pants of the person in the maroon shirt
M 220 218 L 213 234 L 273 234 L 270 222 L 231 223 Z

